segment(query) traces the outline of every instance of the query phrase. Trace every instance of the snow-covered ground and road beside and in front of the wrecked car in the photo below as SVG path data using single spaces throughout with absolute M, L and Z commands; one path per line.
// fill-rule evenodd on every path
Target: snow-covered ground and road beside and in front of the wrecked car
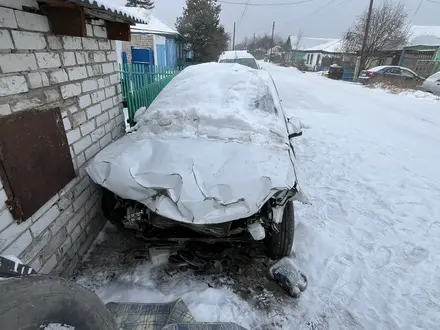
M 148 263 L 112 270 L 111 260 L 78 281 L 105 302 L 182 297 L 197 320 L 249 329 L 438 328 L 440 101 L 264 67 L 304 128 L 296 149 L 313 205 L 296 206 L 292 258 L 309 278 L 301 298 L 253 287 L 246 297 L 233 277 L 213 286 Z

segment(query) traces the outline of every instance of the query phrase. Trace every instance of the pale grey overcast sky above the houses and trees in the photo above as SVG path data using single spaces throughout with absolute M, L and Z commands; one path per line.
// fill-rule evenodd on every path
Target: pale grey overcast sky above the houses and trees
M 124 4 L 125 0 L 109 0 Z M 247 0 L 224 0 L 247 2 Z M 270 4 L 299 2 L 306 0 L 250 0 L 250 4 Z M 384 0 L 375 0 L 379 4 Z M 394 0 L 398 1 L 398 0 Z M 440 25 L 440 0 L 424 0 L 415 14 L 421 0 L 401 0 L 406 5 L 408 17 L 415 25 Z M 438 4 L 431 1 L 437 1 Z M 220 0 L 219 0 L 220 2 Z M 369 0 L 311 0 L 290 6 L 259 7 L 248 6 L 243 19 L 244 5 L 222 4 L 221 23 L 232 34 L 234 21 L 237 22 L 237 41 L 253 33 L 270 33 L 272 22 L 275 31 L 287 39 L 298 30 L 307 37 L 338 38 L 352 24 L 357 15 L 368 7 Z M 181 15 L 185 0 L 155 0 L 153 14 L 174 27 L 176 17 Z

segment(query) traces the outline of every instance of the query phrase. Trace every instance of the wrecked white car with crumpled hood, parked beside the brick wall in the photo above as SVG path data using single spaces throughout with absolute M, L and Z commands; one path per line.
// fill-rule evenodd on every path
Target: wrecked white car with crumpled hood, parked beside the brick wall
M 127 228 L 190 229 L 215 241 L 266 240 L 288 256 L 293 200 L 305 202 L 288 120 L 268 72 L 238 64 L 186 68 L 137 124 L 87 168 L 103 211 Z

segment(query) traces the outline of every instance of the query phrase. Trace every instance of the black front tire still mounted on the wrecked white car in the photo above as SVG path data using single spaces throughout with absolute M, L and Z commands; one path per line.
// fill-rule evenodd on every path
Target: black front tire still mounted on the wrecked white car
M 271 229 L 266 234 L 268 256 L 273 260 L 288 257 L 293 247 L 295 237 L 295 212 L 293 202 L 288 202 L 284 207 L 283 221 L 278 225 L 279 232 Z

